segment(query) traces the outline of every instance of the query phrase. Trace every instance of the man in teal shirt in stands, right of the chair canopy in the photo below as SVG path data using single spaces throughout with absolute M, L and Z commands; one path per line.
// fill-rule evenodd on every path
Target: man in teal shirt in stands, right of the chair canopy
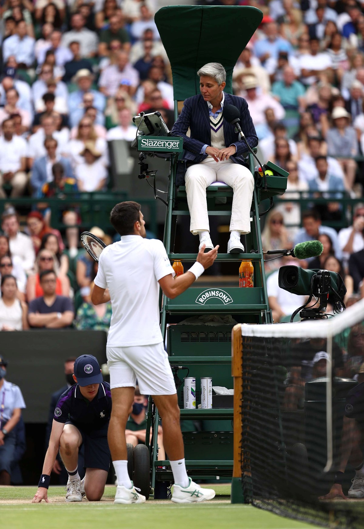
M 272 86 L 272 95 L 281 103 L 285 110 L 298 110 L 305 108 L 305 88 L 296 76 L 291 66 L 283 69 L 283 80 L 276 81 Z

